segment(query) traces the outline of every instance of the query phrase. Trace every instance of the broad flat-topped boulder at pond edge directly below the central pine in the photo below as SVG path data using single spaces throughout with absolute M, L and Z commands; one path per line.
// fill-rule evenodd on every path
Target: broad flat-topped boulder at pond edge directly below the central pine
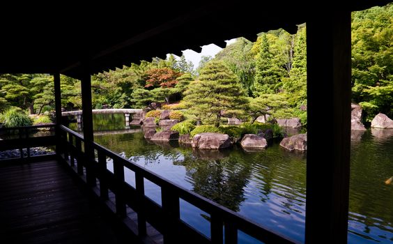
M 227 148 L 231 145 L 231 138 L 226 134 L 205 132 L 196 134 L 192 138 L 192 147 L 199 149 L 219 149 Z

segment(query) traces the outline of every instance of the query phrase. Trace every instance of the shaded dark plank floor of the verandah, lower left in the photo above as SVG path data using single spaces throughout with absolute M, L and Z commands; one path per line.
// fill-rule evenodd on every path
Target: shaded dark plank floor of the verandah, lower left
M 0 243 L 139 243 L 55 160 L 0 167 Z

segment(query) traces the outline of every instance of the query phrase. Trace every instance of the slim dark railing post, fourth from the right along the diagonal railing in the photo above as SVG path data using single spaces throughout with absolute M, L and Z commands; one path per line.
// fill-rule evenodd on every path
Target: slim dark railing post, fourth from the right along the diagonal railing
M 135 188 L 137 190 L 137 209 L 138 209 L 138 235 L 146 236 L 146 217 L 144 215 L 144 177 L 139 172 L 135 172 Z

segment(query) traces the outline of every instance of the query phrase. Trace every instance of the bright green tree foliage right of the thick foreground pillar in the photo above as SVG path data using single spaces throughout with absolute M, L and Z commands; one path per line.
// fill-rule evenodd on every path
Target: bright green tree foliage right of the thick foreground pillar
M 393 4 L 352 14 L 352 97 L 366 120 L 393 116 Z

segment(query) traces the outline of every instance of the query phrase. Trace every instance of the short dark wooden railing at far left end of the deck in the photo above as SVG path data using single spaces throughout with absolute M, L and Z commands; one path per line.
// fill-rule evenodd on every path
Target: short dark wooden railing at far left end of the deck
M 33 125 L 14 128 L 0 128 L 0 150 L 19 149 L 20 158 L 24 158 L 24 149 L 26 149 L 26 158 L 31 157 L 30 148 L 37 146 L 54 146 L 56 137 L 54 135 L 55 124 Z M 45 129 L 43 135 L 37 130 Z M 5 158 L 3 160 L 12 160 Z

